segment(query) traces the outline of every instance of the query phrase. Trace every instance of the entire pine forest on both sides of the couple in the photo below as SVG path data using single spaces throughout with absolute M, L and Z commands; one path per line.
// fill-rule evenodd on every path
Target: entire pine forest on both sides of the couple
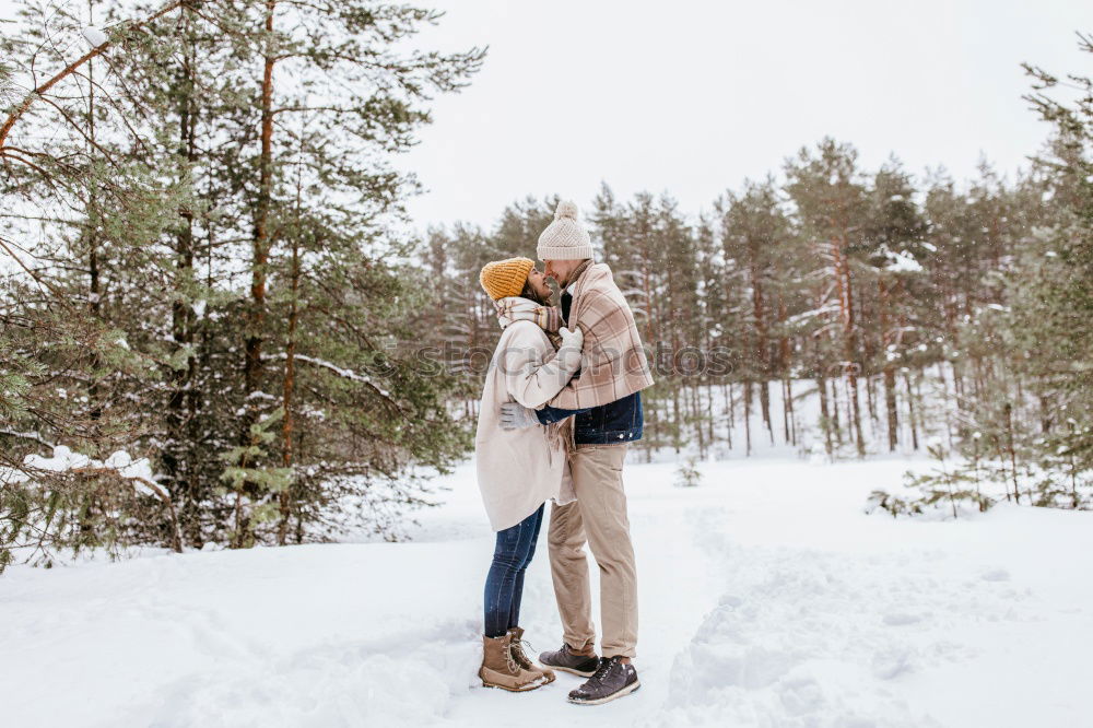
M 478 270 L 530 255 L 553 209 L 409 233 L 391 160 L 483 51 L 414 49 L 439 16 L 365 0 L 21 12 L 0 39 L 0 568 L 397 538 L 470 445 L 498 336 Z M 585 214 L 669 362 L 640 447 L 860 457 L 944 430 L 1009 462 L 1014 497 L 1085 505 L 1093 124 L 1030 71 L 1057 132 L 1015 180 L 868 171 L 823 140 L 697 216 L 604 187 Z

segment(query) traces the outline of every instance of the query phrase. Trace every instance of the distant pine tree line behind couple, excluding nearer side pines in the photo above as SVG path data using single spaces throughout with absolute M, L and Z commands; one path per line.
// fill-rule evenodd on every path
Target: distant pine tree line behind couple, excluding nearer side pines
M 657 374 L 638 447 L 705 455 L 740 437 L 750 454 L 755 438 L 796 446 L 814 431 L 827 455 L 863 456 L 872 422 L 882 449 L 914 450 L 938 424 L 937 412 L 915 410 L 927 369 L 949 364 L 942 376 L 957 401 L 983 396 L 989 367 L 971 343 L 977 322 L 1006 305 L 1000 275 L 1043 220 L 1043 180 L 1008 185 L 984 165 L 964 187 L 941 174 L 916 187 L 898 163 L 868 173 L 853 146 L 830 139 L 787 161 L 783 178 L 745 181 L 698 215 L 667 195 L 621 201 L 603 185 L 586 211 Z M 515 203 L 492 233 L 430 233 L 425 259 L 459 312 L 437 334 L 462 344 L 448 350 L 463 355 L 453 371 L 478 375 L 467 379 L 468 415 L 481 352 L 497 338 L 477 271 L 531 250 L 554 203 Z M 802 421 L 795 402 L 810 396 L 820 416 Z

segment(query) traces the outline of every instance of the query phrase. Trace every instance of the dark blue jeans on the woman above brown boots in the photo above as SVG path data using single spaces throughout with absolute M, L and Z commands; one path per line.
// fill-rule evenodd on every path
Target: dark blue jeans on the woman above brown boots
M 545 504 L 543 504 L 545 505 Z M 520 624 L 520 598 L 524 596 L 524 573 L 536 555 L 539 528 L 543 525 L 543 506 L 512 528 L 497 531 L 493 564 L 485 579 L 485 636 L 504 636 Z

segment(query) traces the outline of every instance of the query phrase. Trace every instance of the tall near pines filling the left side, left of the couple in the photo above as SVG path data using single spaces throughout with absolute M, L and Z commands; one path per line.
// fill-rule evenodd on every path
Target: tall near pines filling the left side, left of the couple
M 392 158 L 484 57 L 409 42 L 438 20 L 21 3 L 0 40 L 0 568 L 360 518 L 390 538 L 463 456 L 453 381 L 387 345 L 430 301 Z

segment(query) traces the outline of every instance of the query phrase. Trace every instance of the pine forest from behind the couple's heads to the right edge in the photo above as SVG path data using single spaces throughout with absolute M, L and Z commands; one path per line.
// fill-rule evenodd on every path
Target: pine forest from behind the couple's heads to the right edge
M 620 200 L 604 184 L 584 214 L 657 378 L 635 447 L 702 458 L 719 446 L 750 455 L 760 441 L 827 458 L 929 450 L 971 465 L 921 481 L 926 500 L 943 491 L 985 508 L 978 484 L 994 480 L 1018 503 L 1088 507 L 1090 82 L 1070 79 L 1084 97 L 1067 106 L 1049 95 L 1057 79 L 1027 71 L 1030 104 L 1056 132 L 1012 180 L 986 161 L 962 183 L 941 168 L 916 177 L 895 158 L 868 169 L 851 144 L 824 139 L 698 214 L 668 193 Z M 498 336 L 477 272 L 532 255 L 555 204 L 529 197 L 493 230 L 430 231 L 422 260 L 444 280 L 446 310 L 423 331 L 455 354 L 467 418 L 481 352 Z M 810 399 L 816 415 L 798 411 Z

